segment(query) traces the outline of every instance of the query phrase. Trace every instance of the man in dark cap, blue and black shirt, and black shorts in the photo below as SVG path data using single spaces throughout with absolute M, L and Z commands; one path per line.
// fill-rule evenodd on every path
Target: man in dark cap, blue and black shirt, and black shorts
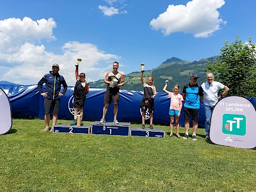
M 200 102 L 204 99 L 204 93 L 197 84 L 199 77 L 196 74 L 190 75 L 190 83 L 186 84 L 182 91 L 184 101 L 184 116 L 185 116 L 185 135 L 184 139 L 188 139 L 189 121 L 192 116 L 193 120 L 193 134 L 192 140 L 196 141 L 196 130 L 198 127 L 198 115 L 200 109 Z

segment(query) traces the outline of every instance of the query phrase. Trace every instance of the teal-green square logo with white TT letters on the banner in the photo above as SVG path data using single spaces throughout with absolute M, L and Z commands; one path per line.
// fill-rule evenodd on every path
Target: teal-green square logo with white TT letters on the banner
M 244 115 L 224 114 L 222 132 L 243 136 L 246 133 L 246 118 Z

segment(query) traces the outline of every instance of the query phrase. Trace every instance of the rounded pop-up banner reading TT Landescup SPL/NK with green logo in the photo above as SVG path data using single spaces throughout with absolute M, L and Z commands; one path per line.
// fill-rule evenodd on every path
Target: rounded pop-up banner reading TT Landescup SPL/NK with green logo
M 213 143 L 240 148 L 256 147 L 256 111 L 240 96 L 221 99 L 212 112 L 210 138 Z

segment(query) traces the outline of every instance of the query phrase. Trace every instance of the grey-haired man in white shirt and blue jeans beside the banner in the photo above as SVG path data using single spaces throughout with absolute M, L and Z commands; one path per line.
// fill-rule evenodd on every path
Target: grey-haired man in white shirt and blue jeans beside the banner
M 207 82 L 201 85 L 201 88 L 204 90 L 204 109 L 205 109 L 205 140 L 209 140 L 209 129 L 211 123 L 211 115 L 214 109 L 214 106 L 218 102 L 218 99 L 225 95 L 228 92 L 229 88 L 224 84 L 221 84 L 217 81 L 213 81 L 214 77 L 211 72 L 206 74 Z M 223 93 L 218 95 L 219 90 L 223 90 Z

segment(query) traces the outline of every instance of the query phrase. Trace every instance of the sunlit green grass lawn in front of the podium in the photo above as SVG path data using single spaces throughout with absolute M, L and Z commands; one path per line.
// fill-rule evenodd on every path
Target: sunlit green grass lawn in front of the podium
M 204 129 L 193 141 L 169 138 L 160 125 L 166 138 L 44 127 L 14 119 L 0 135 L 0 191 L 256 191 L 256 150 L 207 143 Z

